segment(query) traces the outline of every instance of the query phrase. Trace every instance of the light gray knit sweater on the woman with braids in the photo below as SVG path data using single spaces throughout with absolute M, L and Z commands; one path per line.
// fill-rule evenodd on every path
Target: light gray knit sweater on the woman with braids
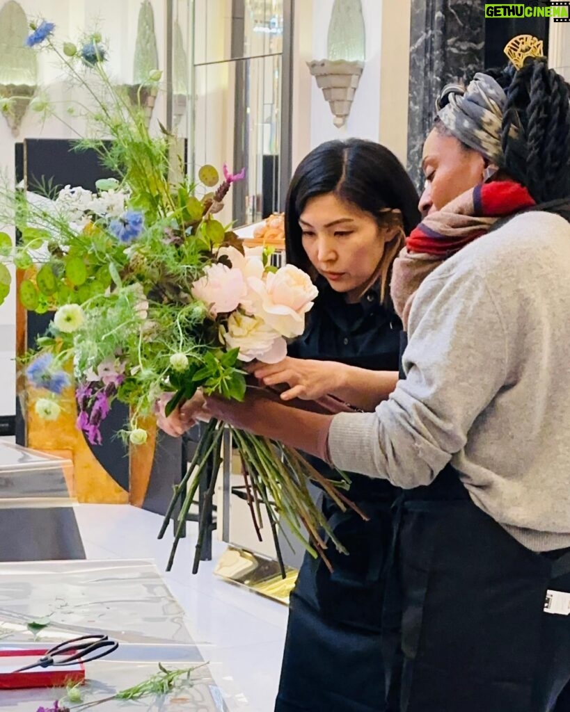
M 451 461 L 472 501 L 535 551 L 570 546 L 570 224 L 531 212 L 420 287 L 406 379 L 333 419 L 333 463 L 403 488 Z

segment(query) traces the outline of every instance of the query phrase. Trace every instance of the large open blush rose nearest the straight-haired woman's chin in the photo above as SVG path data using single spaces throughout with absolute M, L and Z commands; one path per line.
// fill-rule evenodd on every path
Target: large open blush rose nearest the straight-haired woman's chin
M 248 286 L 255 295 L 254 314 L 281 336 L 291 338 L 304 332 L 305 315 L 318 295 L 308 274 L 294 265 L 285 265 L 268 273 L 264 280 L 250 277 Z

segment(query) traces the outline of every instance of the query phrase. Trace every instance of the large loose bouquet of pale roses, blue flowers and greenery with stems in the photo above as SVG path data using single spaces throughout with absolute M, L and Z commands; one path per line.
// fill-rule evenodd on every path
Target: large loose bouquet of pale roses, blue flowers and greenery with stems
M 60 46 L 53 31 L 52 23 L 35 24 L 28 43 L 51 51 L 89 96 L 91 105 L 78 108 L 89 128 L 77 149 L 96 150 L 115 178 L 98 181 L 96 192 L 68 186 L 41 199 L 4 187 L 0 217 L 19 229 L 21 241 L 13 250 L 9 236 L 0 234 L 0 253 L 21 270 L 22 305 L 54 313 L 26 363 L 29 381 L 46 394 L 36 402 L 38 414 L 57 419 L 58 397 L 73 383 L 77 426 L 90 443 L 101 444 L 100 424 L 118 400 L 130 409 L 120 436 L 142 444 L 144 418 L 165 392 L 171 394 L 167 413 L 197 389 L 243 399 L 244 363 L 281 360 L 286 339 L 303 333 L 317 290 L 298 268 L 272 267 L 269 249 L 249 251 L 231 226 L 216 219 L 243 172 L 232 174 L 224 165 L 220 179 L 206 165 L 197 180 L 172 182 L 176 137 L 162 126 L 152 135 L 140 105 L 115 87 L 105 71 L 102 38 L 95 33 Z M 149 83 L 159 80 L 160 72 L 152 71 Z M 47 103 L 44 109 L 51 110 Z M 1 298 L 9 278 L 0 265 Z M 224 427 L 215 420 L 207 424 L 175 488 L 160 533 L 180 500 L 169 567 L 208 462 L 214 477 L 206 499 L 212 501 Z M 326 559 L 327 537 L 341 548 L 311 499 L 307 479 L 318 481 L 344 509 L 352 506 L 341 491 L 346 478 L 329 481 L 296 451 L 230 430 L 258 527 L 263 507 L 275 541 L 281 518 L 313 555 Z

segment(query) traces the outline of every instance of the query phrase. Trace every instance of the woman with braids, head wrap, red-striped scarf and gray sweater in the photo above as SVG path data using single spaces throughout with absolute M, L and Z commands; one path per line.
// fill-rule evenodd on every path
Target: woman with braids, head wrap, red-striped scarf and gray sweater
M 207 404 L 403 488 L 390 711 L 551 712 L 570 680 L 570 94 L 531 53 L 442 96 L 393 268 L 390 397 L 334 417 Z

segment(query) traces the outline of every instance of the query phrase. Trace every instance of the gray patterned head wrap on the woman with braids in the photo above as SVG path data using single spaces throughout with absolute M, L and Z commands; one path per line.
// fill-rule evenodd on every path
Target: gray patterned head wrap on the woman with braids
M 477 73 L 467 89 L 448 98 L 449 103 L 437 112 L 441 122 L 460 141 L 502 167 L 501 125 L 507 95 L 500 85 L 488 74 Z M 517 135 L 514 128 L 511 131 Z

